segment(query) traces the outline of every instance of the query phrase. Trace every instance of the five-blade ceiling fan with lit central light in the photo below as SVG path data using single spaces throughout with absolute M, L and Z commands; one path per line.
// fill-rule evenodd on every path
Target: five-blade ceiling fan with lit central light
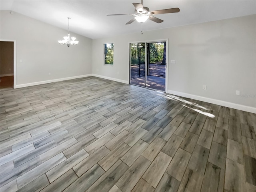
M 135 16 L 132 20 L 128 21 L 126 25 L 131 24 L 135 20 L 143 23 L 146 22 L 146 20 L 152 20 L 156 23 L 162 23 L 163 20 L 154 17 L 153 15 L 156 14 L 165 14 L 165 13 L 178 13 L 180 12 L 179 8 L 170 8 L 170 9 L 162 9 L 162 10 L 156 10 L 156 11 L 149 11 L 148 7 L 144 7 L 142 5 L 142 0 L 141 4 L 140 3 L 132 3 L 135 7 L 135 14 L 112 14 L 112 15 L 107 15 L 107 16 L 116 16 L 116 15 L 133 15 Z

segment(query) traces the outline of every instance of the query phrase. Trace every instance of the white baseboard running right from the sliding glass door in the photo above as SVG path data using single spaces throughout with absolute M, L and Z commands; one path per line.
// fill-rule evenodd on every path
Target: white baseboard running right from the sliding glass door
M 196 99 L 196 100 L 199 100 L 199 101 L 208 102 L 208 103 L 212 103 L 212 104 L 217 104 L 217 105 L 221 105 L 221 106 L 224 106 L 224 107 L 229 107 L 229 108 L 238 109 L 238 110 L 242 110 L 242 111 L 246 111 L 246 112 L 256 114 L 256 108 L 255 107 L 240 105 L 240 104 L 236 104 L 236 103 L 231 103 L 231 102 L 226 102 L 226 101 L 222 101 L 222 100 L 202 97 L 202 96 L 198 96 L 198 95 L 192 95 L 192 94 L 173 91 L 173 90 L 168 90 L 168 94 L 177 95 L 177 96 L 181 96 L 181 97 L 186 97 L 186 98 L 190 98 L 190 99 Z

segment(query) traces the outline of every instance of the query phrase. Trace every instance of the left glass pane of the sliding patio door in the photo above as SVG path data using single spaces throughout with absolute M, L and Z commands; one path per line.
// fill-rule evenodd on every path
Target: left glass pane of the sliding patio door
M 145 86 L 145 43 L 130 44 L 130 84 Z

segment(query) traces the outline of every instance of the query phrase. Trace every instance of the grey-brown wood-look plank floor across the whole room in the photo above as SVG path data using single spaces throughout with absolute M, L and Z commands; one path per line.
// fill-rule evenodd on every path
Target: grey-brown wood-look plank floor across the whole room
M 1 90 L 1 192 L 255 192 L 256 115 L 96 77 Z

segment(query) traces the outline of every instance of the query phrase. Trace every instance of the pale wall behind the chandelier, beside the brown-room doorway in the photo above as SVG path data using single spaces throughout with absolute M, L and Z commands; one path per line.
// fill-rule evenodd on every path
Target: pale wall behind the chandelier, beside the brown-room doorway
M 57 41 L 67 30 L 16 12 L 1 11 L 0 16 L 1 40 L 16 40 L 17 86 L 92 74 L 92 39 L 71 32 L 79 43 L 67 47 Z

